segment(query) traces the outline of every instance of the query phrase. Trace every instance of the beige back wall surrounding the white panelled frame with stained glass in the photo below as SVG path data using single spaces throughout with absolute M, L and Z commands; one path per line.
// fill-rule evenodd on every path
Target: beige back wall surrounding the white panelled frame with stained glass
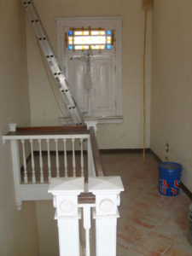
M 69 0 L 33 1 L 43 21 L 49 41 L 56 52 L 55 18 L 64 16 L 122 16 L 123 17 L 123 124 L 100 125 L 100 148 L 143 147 L 143 30 L 142 0 Z M 45 4 L 46 3 L 46 4 Z M 147 147 L 150 130 L 150 64 L 151 29 L 148 16 L 147 58 Z M 49 88 L 39 55 L 37 39 L 26 22 L 29 96 L 32 125 L 58 125 L 60 112 Z

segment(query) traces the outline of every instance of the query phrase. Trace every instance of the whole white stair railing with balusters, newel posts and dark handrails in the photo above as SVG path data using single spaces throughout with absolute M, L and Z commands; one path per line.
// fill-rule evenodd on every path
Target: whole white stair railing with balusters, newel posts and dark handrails
M 17 208 L 22 201 L 53 199 L 60 256 L 115 256 L 124 188 L 120 177 L 104 176 L 94 127 L 9 126 L 3 142 L 11 144 Z

